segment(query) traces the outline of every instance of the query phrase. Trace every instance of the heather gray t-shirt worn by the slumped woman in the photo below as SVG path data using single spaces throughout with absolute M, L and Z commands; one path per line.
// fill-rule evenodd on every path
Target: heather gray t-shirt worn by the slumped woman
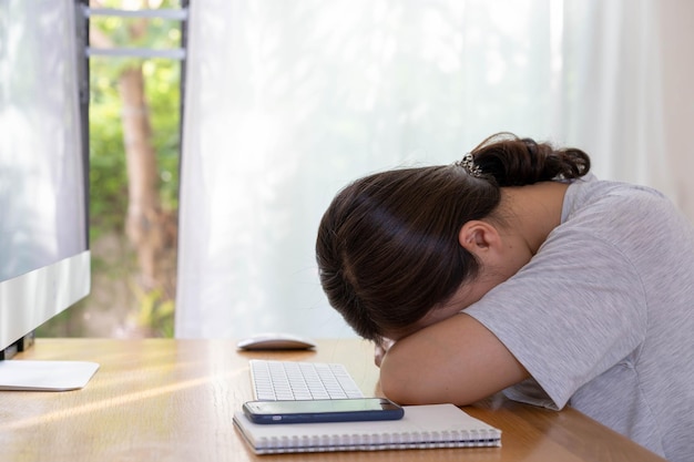
M 532 376 L 510 398 L 694 461 L 694 232 L 662 194 L 575 181 L 538 254 L 465 312 Z

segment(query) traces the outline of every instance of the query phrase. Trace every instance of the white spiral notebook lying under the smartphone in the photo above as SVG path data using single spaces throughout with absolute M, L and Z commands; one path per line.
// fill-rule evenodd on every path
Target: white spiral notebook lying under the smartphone
M 234 424 L 257 454 L 500 446 L 501 431 L 453 404 L 406 405 L 400 420 L 257 424 L 243 412 Z

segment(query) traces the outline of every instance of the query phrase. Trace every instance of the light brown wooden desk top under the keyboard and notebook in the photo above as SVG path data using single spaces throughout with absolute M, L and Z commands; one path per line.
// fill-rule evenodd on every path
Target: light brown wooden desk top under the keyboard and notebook
M 0 392 L 3 461 L 663 461 L 574 410 L 493 398 L 465 408 L 501 429 L 502 448 L 254 455 L 232 424 L 252 399 L 247 361 L 343 362 L 377 390 L 369 343 L 325 340 L 317 351 L 237 352 L 228 340 L 39 339 L 23 359 L 101 363 L 83 390 Z

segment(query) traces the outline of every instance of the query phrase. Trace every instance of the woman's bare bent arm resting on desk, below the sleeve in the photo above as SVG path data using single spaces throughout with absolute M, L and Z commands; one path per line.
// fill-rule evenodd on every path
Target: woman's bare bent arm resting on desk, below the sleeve
M 384 393 L 402 404 L 470 404 L 528 377 L 503 343 L 465 314 L 398 340 L 380 366 Z

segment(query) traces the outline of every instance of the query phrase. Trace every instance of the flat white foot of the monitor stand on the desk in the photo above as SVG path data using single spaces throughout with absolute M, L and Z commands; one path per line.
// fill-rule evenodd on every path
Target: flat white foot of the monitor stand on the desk
M 69 391 L 84 388 L 99 369 L 95 362 L 0 361 L 0 391 Z

